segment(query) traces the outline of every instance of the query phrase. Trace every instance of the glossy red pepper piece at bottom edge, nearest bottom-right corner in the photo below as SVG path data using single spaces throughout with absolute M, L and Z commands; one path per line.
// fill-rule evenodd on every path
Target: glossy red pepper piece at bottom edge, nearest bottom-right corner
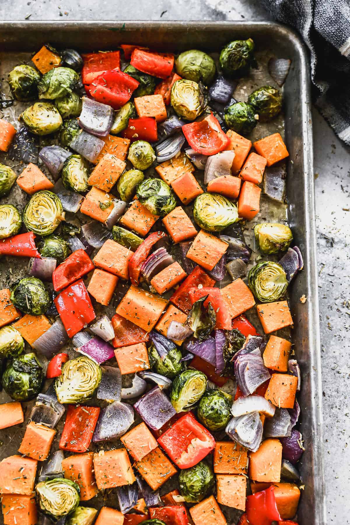
M 280 521 L 274 497 L 274 487 L 247 496 L 246 513 L 251 525 L 271 525 L 272 521 Z

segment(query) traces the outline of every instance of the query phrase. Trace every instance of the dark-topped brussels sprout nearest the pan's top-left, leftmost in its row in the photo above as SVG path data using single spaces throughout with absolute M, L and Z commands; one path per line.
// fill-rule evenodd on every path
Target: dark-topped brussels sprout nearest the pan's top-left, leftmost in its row
M 8 83 L 17 100 L 26 101 L 38 98 L 40 73 L 34 67 L 21 64 L 8 74 Z

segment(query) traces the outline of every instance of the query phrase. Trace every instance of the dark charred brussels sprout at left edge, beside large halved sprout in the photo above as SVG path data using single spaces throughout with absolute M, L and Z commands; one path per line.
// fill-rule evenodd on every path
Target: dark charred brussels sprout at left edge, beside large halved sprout
M 30 401 L 41 389 L 44 371 L 34 353 L 19 355 L 7 362 L 3 374 L 5 392 L 15 401 Z

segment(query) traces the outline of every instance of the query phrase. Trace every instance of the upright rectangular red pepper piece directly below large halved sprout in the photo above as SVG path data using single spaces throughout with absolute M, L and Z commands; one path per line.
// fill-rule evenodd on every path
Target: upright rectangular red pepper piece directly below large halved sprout
M 98 406 L 69 405 L 59 447 L 70 452 L 86 452 L 100 414 Z

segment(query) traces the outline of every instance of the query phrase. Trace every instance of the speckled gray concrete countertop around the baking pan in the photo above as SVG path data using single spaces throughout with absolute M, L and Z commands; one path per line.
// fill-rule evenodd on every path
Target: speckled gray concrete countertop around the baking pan
M 266 20 L 257 0 L 0 0 L 2 20 Z M 313 111 L 328 523 L 350 523 L 350 150 Z

